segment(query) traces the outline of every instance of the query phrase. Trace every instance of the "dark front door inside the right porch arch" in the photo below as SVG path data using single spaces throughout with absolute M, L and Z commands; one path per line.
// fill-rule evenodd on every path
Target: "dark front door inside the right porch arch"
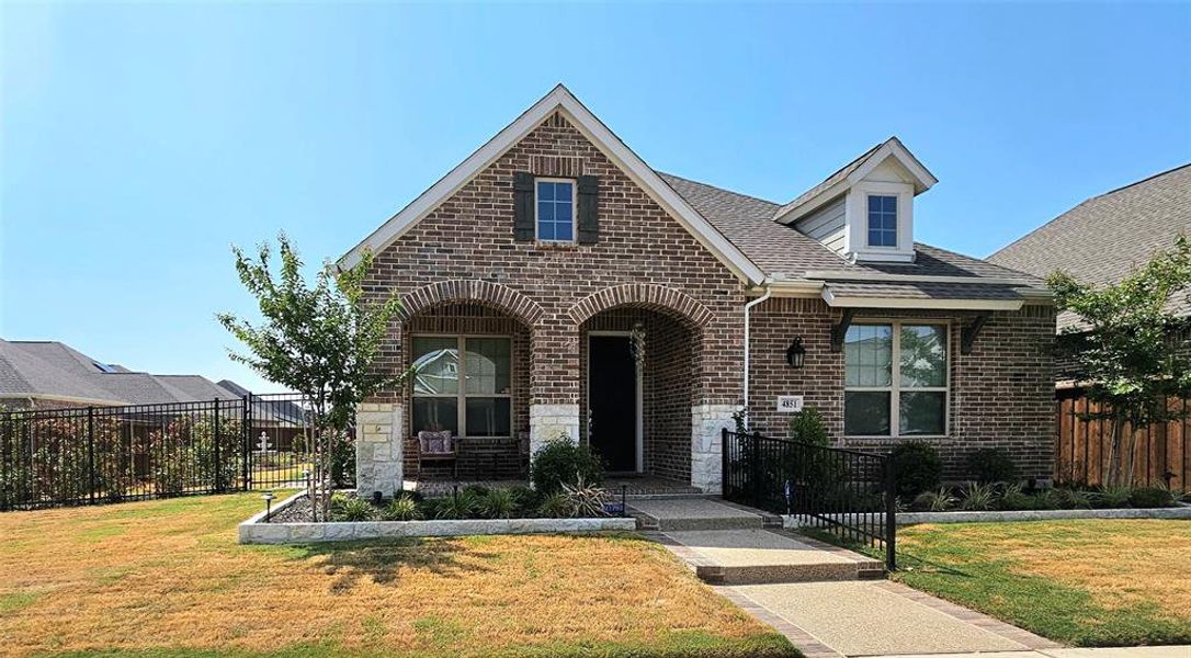
M 591 336 L 591 443 L 609 471 L 637 470 L 637 364 L 629 336 Z

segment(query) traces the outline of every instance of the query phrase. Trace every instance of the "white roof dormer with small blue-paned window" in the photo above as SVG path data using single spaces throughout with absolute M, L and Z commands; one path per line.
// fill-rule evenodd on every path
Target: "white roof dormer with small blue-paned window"
M 858 261 L 913 261 L 913 198 L 939 180 L 897 137 L 786 204 L 774 221 Z

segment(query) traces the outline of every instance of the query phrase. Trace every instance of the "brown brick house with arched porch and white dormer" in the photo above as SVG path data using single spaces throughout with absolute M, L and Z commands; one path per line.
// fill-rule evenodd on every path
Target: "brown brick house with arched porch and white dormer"
M 1049 478 L 1052 299 L 915 242 L 935 182 L 891 138 L 766 201 L 654 170 L 556 87 L 339 261 L 375 254 L 367 290 L 404 304 L 384 366 L 424 366 L 361 408 L 360 489 L 392 492 L 417 432 L 450 429 L 462 478 L 566 434 L 718 492 L 721 430 L 747 405 L 785 436 L 779 396 L 838 445 L 922 439 L 950 477 L 998 446 Z

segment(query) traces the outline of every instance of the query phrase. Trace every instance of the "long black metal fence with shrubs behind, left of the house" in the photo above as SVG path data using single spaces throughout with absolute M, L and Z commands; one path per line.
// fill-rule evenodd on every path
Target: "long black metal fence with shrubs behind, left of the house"
M 298 395 L 0 412 L 0 510 L 301 486 Z

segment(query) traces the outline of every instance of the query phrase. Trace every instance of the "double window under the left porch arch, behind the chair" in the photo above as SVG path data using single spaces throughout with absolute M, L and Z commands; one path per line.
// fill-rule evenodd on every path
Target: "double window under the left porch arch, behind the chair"
M 413 432 L 511 436 L 512 340 L 414 336 Z

